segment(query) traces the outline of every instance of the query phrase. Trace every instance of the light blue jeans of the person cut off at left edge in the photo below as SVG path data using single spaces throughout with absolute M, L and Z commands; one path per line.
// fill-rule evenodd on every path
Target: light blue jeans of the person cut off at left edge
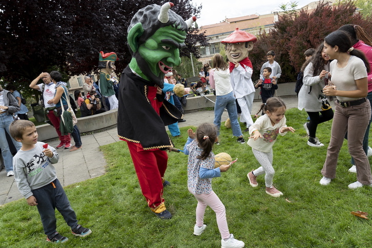
M 0 114 L 0 148 L 2 150 L 4 165 L 7 172 L 13 171 L 13 156 L 10 152 L 5 132 L 7 132 L 10 136 L 9 126 L 13 121 L 14 119 L 12 115 L 8 115 L 7 113 Z M 12 141 L 15 149 L 18 151 L 22 147 L 22 144 L 15 141 L 13 137 Z

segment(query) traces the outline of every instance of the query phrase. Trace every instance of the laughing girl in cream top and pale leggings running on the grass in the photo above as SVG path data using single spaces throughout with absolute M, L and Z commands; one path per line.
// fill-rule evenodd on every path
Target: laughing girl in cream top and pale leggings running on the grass
M 273 197 L 283 195 L 279 190 L 273 186 L 274 168 L 273 168 L 273 146 L 278 137 L 278 134 L 285 135 L 288 131 L 292 133 L 295 129 L 287 127 L 285 119 L 285 104 L 282 99 L 278 97 L 271 97 L 266 104 L 261 105 L 261 110 L 265 114 L 260 116 L 256 122 L 250 127 L 248 144 L 252 147 L 252 152 L 261 167 L 252 170 L 247 174 L 252 187 L 257 187 L 258 183 L 256 177 L 265 174 L 266 193 Z

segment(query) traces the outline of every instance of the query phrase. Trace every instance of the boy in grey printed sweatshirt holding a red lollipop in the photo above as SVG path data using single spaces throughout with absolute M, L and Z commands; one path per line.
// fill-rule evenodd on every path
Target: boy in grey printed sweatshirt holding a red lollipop
M 90 229 L 77 224 L 76 214 L 57 179 L 52 165 L 59 159 L 56 150 L 37 141 L 36 127 L 29 120 L 13 121 L 9 132 L 15 140 L 22 142 L 22 148 L 13 157 L 15 182 L 27 203 L 37 206 L 47 241 L 63 243 L 68 240 L 56 231 L 56 208 L 71 227 L 73 235 L 85 237 L 91 234 Z

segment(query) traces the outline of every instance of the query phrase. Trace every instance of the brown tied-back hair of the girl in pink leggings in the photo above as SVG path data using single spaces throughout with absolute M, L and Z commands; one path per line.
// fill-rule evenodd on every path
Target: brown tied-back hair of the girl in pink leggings
M 217 132 L 211 123 L 202 123 L 196 131 L 198 146 L 203 150 L 197 158 L 205 159 L 210 156 L 214 142 L 217 139 Z

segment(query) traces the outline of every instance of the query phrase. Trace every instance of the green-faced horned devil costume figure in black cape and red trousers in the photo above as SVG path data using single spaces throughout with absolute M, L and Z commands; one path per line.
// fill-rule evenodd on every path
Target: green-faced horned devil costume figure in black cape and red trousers
M 172 217 L 163 199 L 167 169 L 166 150 L 173 144 L 164 126 L 182 118 L 182 113 L 164 100 L 164 74 L 181 63 L 179 49 L 192 17 L 186 22 L 170 10 L 172 3 L 140 9 L 128 27 L 129 66 L 120 78 L 118 136 L 127 141 L 143 196 L 162 219 Z

